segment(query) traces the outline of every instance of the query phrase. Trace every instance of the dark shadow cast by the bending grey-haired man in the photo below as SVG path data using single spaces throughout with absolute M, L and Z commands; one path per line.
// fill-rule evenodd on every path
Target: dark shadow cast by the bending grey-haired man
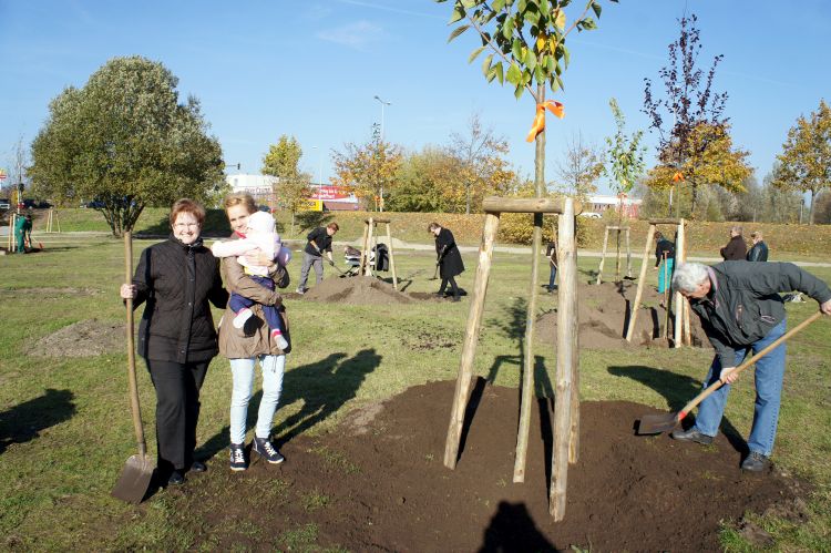
M 654 367 L 644 367 L 642 365 L 609 367 L 608 372 L 616 377 L 630 378 L 657 391 L 667 400 L 671 412 L 680 411 L 689 400 L 701 391 L 701 382 L 699 380 Z M 694 424 L 694 420 L 690 419 L 694 419 L 694 417 L 685 419 L 685 429 Z M 721 419 L 720 428 L 736 451 L 742 455 L 748 452 L 747 442 L 726 417 Z

